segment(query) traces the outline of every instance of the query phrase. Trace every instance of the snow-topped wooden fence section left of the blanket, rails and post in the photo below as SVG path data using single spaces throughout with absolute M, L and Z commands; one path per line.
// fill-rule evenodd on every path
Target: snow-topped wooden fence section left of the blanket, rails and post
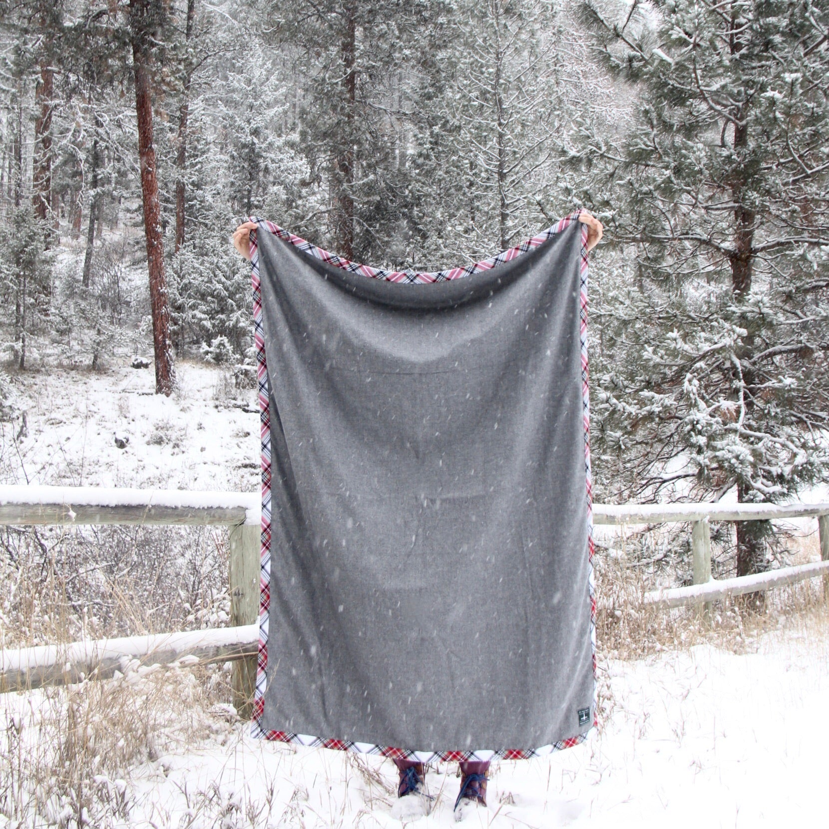
M 111 676 L 119 657 L 149 662 L 194 657 L 233 661 L 234 704 L 250 717 L 256 680 L 256 619 L 259 612 L 259 495 L 245 492 L 104 489 L 103 487 L 0 486 L 0 525 L 143 524 L 225 525 L 230 528 L 228 570 L 230 628 L 72 642 L 46 649 L 0 651 L 0 692 L 77 681 L 81 675 Z M 194 638 L 195 637 L 195 638 Z M 231 644 L 225 642 L 230 637 Z M 149 644 L 148 644 L 149 643 Z M 152 646 L 152 647 L 151 647 Z M 93 659 L 91 655 L 98 656 Z M 102 658 L 101 655 L 103 655 Z

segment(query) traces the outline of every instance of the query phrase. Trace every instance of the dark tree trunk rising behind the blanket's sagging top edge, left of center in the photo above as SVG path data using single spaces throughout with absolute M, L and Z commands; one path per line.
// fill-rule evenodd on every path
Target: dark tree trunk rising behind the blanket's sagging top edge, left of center
M 356 10 L 354 2 L 345 7 L 346 27 L 340 41 L 342 60 L 342 85 L 345 92 L 346 136 L 348 144 L 340 148 L 334 161 L 334 223 L 337 238 L 337 253 L 346 259 L 354 258 L 354 197 L 351 185 L 354 183 L 353 138 L 354 109 L 356 105 Z

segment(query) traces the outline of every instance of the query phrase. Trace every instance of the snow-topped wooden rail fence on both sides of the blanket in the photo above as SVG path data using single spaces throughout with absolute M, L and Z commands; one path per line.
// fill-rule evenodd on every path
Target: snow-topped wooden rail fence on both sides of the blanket
M 594 504 L 604 525 L 691 522 L 694 584 L 654 590 L 644 604 L 705 605 L 824 575 L 829 591 L 829 503 L 822 504 Z M 710 521 L 816 517 L 821 561 L 736 579 L 711 578 Z M 234 661 L 234 702 L 250 716 L 256 676 L 259 608 L 259 495 L 244 492 L 0 486 L 0 525 L 146 524 L 230 527 L 229 628 L 159 633 L 98 641 L 0 650 L 0 692 L 112 676 L 130 659 L 158 664 Z

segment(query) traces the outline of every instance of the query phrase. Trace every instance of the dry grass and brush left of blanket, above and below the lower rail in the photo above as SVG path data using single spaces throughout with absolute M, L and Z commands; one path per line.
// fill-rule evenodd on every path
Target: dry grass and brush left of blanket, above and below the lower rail
M 207 528 L 2 528 L 2 647 L 227 623 L 226 536 Z M 221 665 L 124 660 L 106 681 L 0 696 L 0 816 L 12 827 L 127 820 L 130 770 L 204 739 Z M 2 823 L 2 821 L 0 821 Z

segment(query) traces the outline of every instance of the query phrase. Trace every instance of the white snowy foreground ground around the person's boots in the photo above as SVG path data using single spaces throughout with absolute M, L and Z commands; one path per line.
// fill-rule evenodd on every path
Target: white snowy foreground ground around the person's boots
M 829 743 L 823 627 L 764 634 L 739 655 L 703 645 L 610 662 L 601 733 L 548 759 L 502 762 L 489 808 L 463 825 L 814 825 Z M 384 788 L 347 754 L 264 743 L 247 732 L 218 727 L 197 747 L 136 769 L 130 825 L 400 827 L 390 817 L 389 761 L 359 759 Z M 429 773 L 433 813 L 410 826 L 455 825 L 455 768 Z M 258 819 L 246 822 L 254 812 Z

